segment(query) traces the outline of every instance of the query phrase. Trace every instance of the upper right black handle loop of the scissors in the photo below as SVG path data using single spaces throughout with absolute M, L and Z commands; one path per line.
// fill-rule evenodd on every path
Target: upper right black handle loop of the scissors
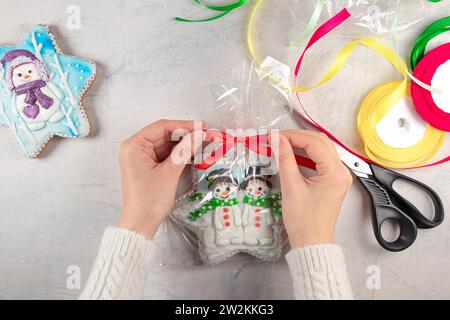
M 400 173 L 381 168 L 373 164 L 371 164 L 370 167 L 372 168 L 375 179 L 386 189 L 392 203 L 401 211 L 406 213 L 412 220 L 414 220 L 418 228 L 430 229 L 437 227 L 442 223 L 444 220 L 444 205 L 442 204 L 442 200 L 439 195 L 433 189 L 420 181 L 414 180 Z M 433 202 L 434 209 L 433 215 L 427 215 L 432 217 L 431 219 L 427 218 L 427 216 L 422 214 L 422 212 L 420 212 L 420 210 L 417 209 L 410 201 L 402 197 L 397 191 L 394 190 L 393 184 L 397 180 L 404 180 L 428 195 Z

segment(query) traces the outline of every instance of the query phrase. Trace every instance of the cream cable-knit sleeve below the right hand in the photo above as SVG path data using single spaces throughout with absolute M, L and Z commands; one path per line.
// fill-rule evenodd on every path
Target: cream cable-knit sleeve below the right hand
M 286 254 L 296 299 L 353 299 L 341 247 L 310 245 Z

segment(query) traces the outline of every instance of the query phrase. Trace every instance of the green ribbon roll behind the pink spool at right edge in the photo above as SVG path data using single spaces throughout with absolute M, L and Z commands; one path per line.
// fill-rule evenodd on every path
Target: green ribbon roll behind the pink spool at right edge
M 433 39 L 434 37 L 447 31 L 450 31 L 450 17 L 445 17 L 433 22 L 422 32 L 422 34 L 419 36 L 419 38 L 417 38 L 416 42 L 414 43 L 414 46 L 411 51 L 410 62 L 411 68 L 413 70 L 425 55 L 425 49 L 427 47 L 428 42 L 430 42 L 430 40 Z

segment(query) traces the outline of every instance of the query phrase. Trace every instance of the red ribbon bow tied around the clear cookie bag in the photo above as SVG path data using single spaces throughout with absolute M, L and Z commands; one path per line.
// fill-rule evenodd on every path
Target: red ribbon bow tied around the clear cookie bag
M 215 149 L 209 157 L 203 159 L 203 162 L 195 165 L 199 170 L 207 170 L 217 161 L 222 159 L 228 152 L 233 150 L 238 143 L 242 143 L 247 149 L 263 155 L 265 157 L 272 156 L 272 149 L 269 143 L 268 134 L 260 134 L 254 136 L 232 136 L 219 130 L 206 130 L 206 141 L 221 144 Z M 295 160 L 299 166 L 315 170 L 316 164 L 306 157 L 295 155 Z

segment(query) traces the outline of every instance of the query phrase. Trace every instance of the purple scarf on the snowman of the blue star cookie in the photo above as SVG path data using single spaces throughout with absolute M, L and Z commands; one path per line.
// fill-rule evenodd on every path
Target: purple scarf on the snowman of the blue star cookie
M 44 109 L 48 109 L 53 105 L 53 99 L 41 91 L 43 87 L 45 87 L 45 81 L 36 80 L 22 84 L 14 89 L 17 95 L 26 94 L 25 103 L 27 106 L 23 108 L 23 113 L 28 118 L 34 119 L 39 114 L 39 106 L 36 102 L 39 102 Z

